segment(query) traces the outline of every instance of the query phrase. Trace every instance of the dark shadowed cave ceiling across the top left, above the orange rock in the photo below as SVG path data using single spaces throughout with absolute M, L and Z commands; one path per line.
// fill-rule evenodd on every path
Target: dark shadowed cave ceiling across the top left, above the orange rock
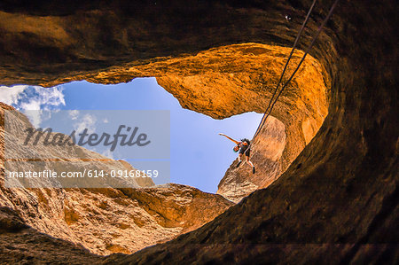
M 143 65 L 231 43 L 290 46 L 294 35 L 288 29 L 300 27 L 304 12 L 289 2 L 256 2 L 3 1 L 0 80 L 9 85 L 67 81 L 107 66 Z M 311 19 L 309 25 L 316 23 Z M 305 43 L 308 38 L 305 32 Z

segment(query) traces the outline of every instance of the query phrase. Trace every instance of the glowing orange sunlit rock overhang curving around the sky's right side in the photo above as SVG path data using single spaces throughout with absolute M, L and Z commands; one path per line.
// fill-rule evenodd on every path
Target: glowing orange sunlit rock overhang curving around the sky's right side
M 153 58 L 139 66 L 127 63 L 96 74 L 76 75 L 42 85 L 72 80 L 115 83 L 155 76 L 160 86 L 172 93 L 184 108 L 222 119 L 249 111 L 263 113 L 290 51 L 261 43 L 220 46 L 195 55 Z M 302 55 L 302 51 L 293 53 L 283 83 Z M 327 115 L 326 87 L 330 84 L 322 73 L 317 60 L 308 56 L 271 113 L 282 123 L 277 125 L 278 121 L 270 117 L 264 128 L 267 129 L 254 139 L 252 160 L 259 168 L 258 173 L 250 175 L 247 170 L 233 170 L 233 164 L 219 184 L 219 194 L 238 202 L 252 191 L 267 187 L 309 144 Z

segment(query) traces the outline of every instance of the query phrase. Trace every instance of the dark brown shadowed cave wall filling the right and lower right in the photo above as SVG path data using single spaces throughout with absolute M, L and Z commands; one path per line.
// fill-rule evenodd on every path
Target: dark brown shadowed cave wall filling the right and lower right
M 396 263 L 395 9 L 340 2 L 312 52 L 331 76 L 329 114 L 278 181 L 199 230 L 109 261 Z

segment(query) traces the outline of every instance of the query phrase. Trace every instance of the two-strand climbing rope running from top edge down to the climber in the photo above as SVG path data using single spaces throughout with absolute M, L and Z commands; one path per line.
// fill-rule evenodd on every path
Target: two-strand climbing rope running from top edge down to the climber
M 274 99 L 274 101 L 273 101 L 273 97 L 275 96 L 275 94 L 276 94 L 276 92 L 277 92 L 277 90 L 278 90 L 278 86 L 279 86 L 281 80 L 283 79 L 283 75 L 284 75 L 285 72 L 286 72 L 286 67 L 287 67 L 287 65 L 288 65 L 288 63 L 289 63 L 289 61 L 290 61 L 290 59 L 291 59 L 291 57 L 292 57 L 292 55 L 293 55 L 293 51 L 294 51 L 294 49 L 295 49 L 295 47 L 296 47 L 296 44 L 298 43 L 298 40 L 299 40 L 299 38 L 300 38 L 300 36 L 301 36 L 303 27 L 305 27 L 306 23 L 307 23 L 308 20 L 309 20 L 310 12 L 313 10 L 314 5 L 316 4 L 316 0 L 315 0 L 315 1 L 313 2 L 313 4 L 310 6 L 308 15 L 307 15 L 305 21 L 303 22 L 302 27 L 301 27 L 300 31 L 298 32 L 298 35 L 296 36 L 295 42 L 293 43 L 293 49 L 292 49 L 292 51 L 291 51 L 291 53 L 290 53 L 290 55 L 289 55 L 289 57 L 288 57 L 288 59 L 287 59 L 287 61 L 286 61 L 286 66 L 284 67 L 283 72 L 282 72 L 282 74 L 281 74 L 281 76 L 280 76 L 280 79 L 279 79 L 279 81 L 278 81 L 278 85 L 277 85 L 277 87 L 276 87 L 276 90 L 274 91 L 273 96 L 270 98 L 269 105 L 268 105 L 268 107 L 267 107 L 265 113 L 263 114 L 262 120 L 261 120 L 261 122 L 259 123 L 258 128 L 256 129 L 256 131 L 255 131 L 255 133 L 254 133 L 254 137 L 257 136 L 258 133 L 259 133 L 259 131 L 262 129 L 262 127 L 263 127 L 265 121 L 268 119 L 268 117 L 269 117 L 271 111 L 273 110 L 274 105 L 275 105 L 276 102 L 278 101 L 278 97 L 281 96 L 281 93 L 283 92 L 283 90 L 286 89 L 286 86 L 288 85 L 288 83 L 291 82 L 291 81 L 293 80 L 293 75 L 295 75 L 296 72 L 298 72 L 299 68 L 301 67 L 301 64 L 302 64 L 303 61 L 305 60 L 305 58 L 306 58 L 306 56 L 308 55 L 310 49 L 313 47 L 314 43 L 316 43 L 316 40 L 317 40 L 318 35 L 320 35 L 320 33 L 323 31 L 323 28 L 325 27 L 325 24 L 327 23 L 328 19 L 330 19 L 330 17 L 332 16 L 332 12 L 333 12 L 333 10 L 335 9 L 335 7 L 336 7 L 336 5 L 338 4 L 338 2 L 340 2 L 340 0 L 335 0 L 335 2 L 332 4 L 332 7 L 330 8 L 330 11 L 328 12 L 327 16 L 326 16 L 325 19 L 323 20 L 323 23 L 320 25 L 320 27 L 318 27 L 317 33 L 313 36 L 312 42 L 309 44 L 308 48 L 306 49 L 306 51 L 305 51 L 303 57 L 301 58 L 300 63 L 299 63 L 298 66 L 295 68 L 295 70 L 293 71 L 293 74 L 291 74 L 290 78 L 289 78 L 288 81 L 284 84 L 284 86 L 282 87 L 282 89 L 279 91 L 278 96 L 277 96 L 277 97 Z M 271 104 L 272 101 L 273 101 L 273 104 Z M 270 104 L 271 104 L 271 106 L 270 106 Z M 269 113 L 268 113 L 268 111 L 269 111 Z M 253 139 L 254 139 L 254 137 L 253 137 Z M 252 141 L 251 141 L 251 143 L 248 145 L 248 148 L 251 146 L 251 144 L 252 144 Z

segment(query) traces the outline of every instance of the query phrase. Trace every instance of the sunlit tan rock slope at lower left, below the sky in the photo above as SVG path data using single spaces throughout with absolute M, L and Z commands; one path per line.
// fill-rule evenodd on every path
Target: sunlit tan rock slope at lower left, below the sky
M 4 123 L 4 109 L 12 110 L 12 107 L 1 103 L 0 106 L 2 115 L 0 121 Z M 31 126 L 27 118 L 20 113 L 15 113 L 12 122 L 8 123 L 12 123 L 15 128 Z M 23 139 L 20 137 L 23 134 L 10 134 L 12 131 L 16 130 L 8 128 L 4 132 L 4 126 L 1 127 L 0 147 L 4 150 L 3 135 L 5 133 L 5 137 L 10 139 L 7 141 L 5 150 L 7 157 L 14 155 L 20 158 L 18 154 L 23 150 Z M 106 171 L 132 168 L 125 161 L 109 160 L 80 146 L 67 147 L 68 149 L 37 144 L 35 149 L 30 149 L 29 154 L 33 158 L 74 159 L 76 161 L 68 165 L 68 170 L 71 172 L 79 171 L 81 168 L 98 168 L 98 170 Z M 4 160 L 3 153 L 2 161 Z M 51 163 L 51 161 L 44 162 L 49 165 Z M 27 167 L 29 164 L 25 163 L 21 167 L 24 166 Z M 140 185 L 136 184 L 137 190 L 127 188 L 120 190 L 112 188 L 7 189 L 4 185 L 3 163 L 1 169 L 1 207 L 12 209 L 13 213 L 23 220 L 21 223 L 24 225 L 27 224 L 52 237 L 66 239 L 84 246 L 91 253 L 136 252 L 145 246 L 164 242 L 183 232 L 196 229 L 232 205 L 221 196 L 177 184 L 159 188 L 139 188 Z M 27 168 L 24 169 L 27 170 Z M 137 178 L 137 180 L 141 186 L 153 186 L 151 179 Z M 7 231 L 13 230 L 13 226 L 18 226 L 20 223 L 17 221 L 4 218 L 4 221 L 1 220 L 2 228 Z M 31 231 L 33 230 L 27 230 L 26 233 Z M 34 234 L 36 235 L 37 232 Z M 9 235 L 9 237 L 12 236 Z

